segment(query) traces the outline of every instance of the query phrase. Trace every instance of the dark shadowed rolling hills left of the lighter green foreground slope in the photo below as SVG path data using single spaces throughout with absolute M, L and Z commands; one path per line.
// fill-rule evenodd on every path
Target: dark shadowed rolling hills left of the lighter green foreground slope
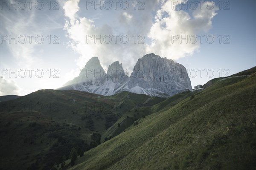
M 128 92 L 106 97 L 39 90 L 0 102 L 0 169 L 49 170 L 73 147 L 87 151 L 100 144 L 109 127 L 146 100 L 151 97 Z

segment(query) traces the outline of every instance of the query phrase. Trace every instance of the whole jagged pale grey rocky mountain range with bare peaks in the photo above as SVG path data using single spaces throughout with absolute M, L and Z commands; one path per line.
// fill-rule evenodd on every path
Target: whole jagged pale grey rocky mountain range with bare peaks
M 116 61 L 105 72 L 98 57 L 92 57 L 78 77 L 57 90 L 78 90 L 104 96 L 128 91 L 168 97 L 192 89 L 186 68 L 166 57 L 147 54 L 138 59 L 131 76 L 125 70 L 122 63 Z

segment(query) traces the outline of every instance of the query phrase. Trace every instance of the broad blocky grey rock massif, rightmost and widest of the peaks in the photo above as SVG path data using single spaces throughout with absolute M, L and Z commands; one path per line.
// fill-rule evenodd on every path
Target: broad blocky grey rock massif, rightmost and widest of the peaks
M 160 91 L 170 96 L 187 88 L 192 89 L 189 76 L 183 65 L 155 54 L 147 54 L 138 59 L 128 88 L 134 88 L 134 85 L 148 89 L 147 93 L 152 93 L 151 96 L 157 95 L 153 92 L 154 89 L 156 92 Z

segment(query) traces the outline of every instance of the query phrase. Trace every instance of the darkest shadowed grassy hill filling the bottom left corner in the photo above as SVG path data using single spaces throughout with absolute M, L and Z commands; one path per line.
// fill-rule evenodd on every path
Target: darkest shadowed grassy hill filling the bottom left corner
M 59 161 L 59 155 L 69 154 L 73 144 L 88 147 L 76 125 L 51 120 L 37 111 L 1 113 L 0 129 L 3 170 L 24 170 L 37 160 L 32 169 L 49 169 Z

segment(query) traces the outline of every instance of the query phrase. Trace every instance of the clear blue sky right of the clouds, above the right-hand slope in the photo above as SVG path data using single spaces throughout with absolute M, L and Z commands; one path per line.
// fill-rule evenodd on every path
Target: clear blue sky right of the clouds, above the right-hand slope
M 256 66 L 256 1 L 232 0 L 229 8 L 230 10 L 218 10 L 218 14 L 212 20 L 212 29 L 208 34 L 227 34 L 230 36 L 230 44 L 203 43 L 199 52 L 177 60 L 188 70 L 205 69 L 202 72 L 202 78 L 199 76 L 200 71 L 197 72 L 197 77 L 190 77 L 192 87 L 197 83 L 204 84 L 212 79 L 209 78 L 211 75 L 206 76 L 207 69 L 215 71 L 213 77 L 215 78 L 220 75 L 219 69 L 222 70 L 223 76 L 227 73 L 227 71 L 224 72 L 224 69 L 228 69 L 229 75 L 231 75 Z

